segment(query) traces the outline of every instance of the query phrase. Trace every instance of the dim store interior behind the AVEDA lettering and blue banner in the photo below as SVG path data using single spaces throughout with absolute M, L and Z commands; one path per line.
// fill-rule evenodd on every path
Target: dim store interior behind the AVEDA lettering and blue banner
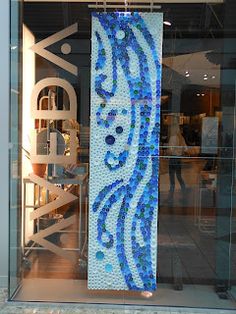
M 190 5 L 194 9 L 190 9 Z M 21 283 L 15 293 L 15 300 L 235 307 L 233 293 L 224 289 L 216 291 L 215 288 L 220 276 L 218 263 L 223 263 L 226 269 L 230 269 L 231 278 L 228 280 L 232 287 L 236 285 L 236 243 L 232 236 L 236 233 L 235 202 L 231 203 L 230 213 L 226 216 L 222 216 L 217 205 L 218 181 L 222 175 L 221 160 L 224 159 L 224 150 L 227 150 L 222 145 L 221 130 L 222 126 L 226 127 L 227 121 L 232 126 L 232 117 L 235 119 L 234 95 L 227 93 L 227 89 L 230 90 L 232 86 L 224 81 L 226 67 L 223 62 L 228 62 L 228 67 L 233 68 L 233 65 L 229 60 L 230 52 L 227 60 L 224 60 L 223 55 L 225 34 L 222 29 L 222 7 L 223 4 L 163 4 L 159 10 L 164 12 L 164 21 L 169 24 L 164 23 L 163 30 L 158 289 L 145 294 L 93 291 L 87 288 L 90 14 L 94 9 L 88 8 L 86 3 L 24 3 L 22 260 Z M 76 64 L 78 77 L 29 49 L 76 21 L 79 25 L 78 32 L 48 49 Z M 235 40 L 230 31 L 227 37 L 229 41 Z M 61 50 L 65 43 L 69 43 L 73 51 L 68 56 Z M 73 85 L 78 97 L 76 119 L 69 122 L 62 119 L 55 123 L 30 117 L 30 91 L 45 77 L 64 77 Z M 227 101 L 223 97 L 227 97 Z M 62 110 L 68 102 L 68 94 L 57 86 L 45 87 L 38 96 L 38 106 L 42 110 L 54 105 Z M 75 130 L 75 143 L 71 144 L 71 134 L 66 131 L 69 128 L 66 123 Z M 175 177 L 175 189 L 170 198 L 169 162 L 172 156 L 169 154 L 168 141 L 170 129 L 175 123 L 187 146 L 181 156 L 182 179 L 186 188 L 183 193 Z M 33 163 L 32 166 L 29 153 L 32 145 L 30 132 L 34 130 L 37 133 L 37 150 L 47 154 L 45 130 L 48 127 L 57 129 L 59 133 L 58 154 L 70 155 L 72 148 L 76 147 L 76 164 L 55 166 Z M 231 144 L 229 139 L 229 147 Z M 235 163 L 235 160 L 231 159 L 230 162 Z M 31 172 L 41 178 L 52 178 L 51 184 L 69 191 L 76 196 L 75 199 L 31 220 L 35 209 L 57 199 L 54 191 L 31 180 Z M 236 182 L 233 173 L 231 180 Z M 235 200 L 235 186 L 230 191 L 231 201 Z M 63 224 L 70 218 L 67 225 Z M 228 226 L 229 219 L 230 230 L 225 227 L 219 232 L 219 223 Z M 37 236 L 40 231 L 45 232 L 44 241 L 42 236 L 40 239 Z

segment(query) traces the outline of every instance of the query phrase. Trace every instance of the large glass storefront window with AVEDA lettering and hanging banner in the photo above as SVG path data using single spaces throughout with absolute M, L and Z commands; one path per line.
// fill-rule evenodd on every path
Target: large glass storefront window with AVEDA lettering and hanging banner
M 23 3 L 14 300 L 235 308 L 236 4 L 191 2 Z

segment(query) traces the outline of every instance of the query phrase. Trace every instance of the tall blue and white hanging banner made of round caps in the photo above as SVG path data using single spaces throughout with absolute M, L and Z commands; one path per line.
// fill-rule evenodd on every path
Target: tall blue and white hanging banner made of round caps
M 92 16 L 90 289 L 156 289 L 162 24 Z

